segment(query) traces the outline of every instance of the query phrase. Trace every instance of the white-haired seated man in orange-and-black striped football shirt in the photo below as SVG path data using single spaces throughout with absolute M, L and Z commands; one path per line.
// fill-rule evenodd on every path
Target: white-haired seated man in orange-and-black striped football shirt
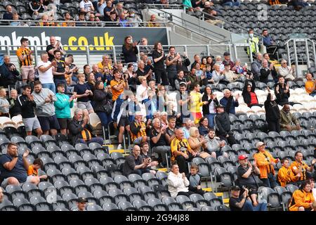
M 143 115 L 141 112 L 136 112 L 135 120 L 131 122 L 131 140 L 133 144 L 147 142 L 146 124 L 143 122 Z

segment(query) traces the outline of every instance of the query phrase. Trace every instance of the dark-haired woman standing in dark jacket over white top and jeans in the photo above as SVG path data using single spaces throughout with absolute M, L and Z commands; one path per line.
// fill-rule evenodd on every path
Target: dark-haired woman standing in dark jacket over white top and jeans
M 214 117 L 216 115 L 216 105 L 218 105 L 218 100 L 216 95 L 213 94 L 211 86 L 206 86 L 204 89 L 204 94 L 202 96 L 202 101 L 207 101 L 206 105 L 202 106 L 203 115 L 209 121 L 209 127 L 214 127 Z

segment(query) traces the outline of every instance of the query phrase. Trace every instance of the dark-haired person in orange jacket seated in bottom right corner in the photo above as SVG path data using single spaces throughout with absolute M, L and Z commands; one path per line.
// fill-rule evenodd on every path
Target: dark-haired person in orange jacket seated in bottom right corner
M 310 181 L 303 181 L 301 187 L 294 191 L 289 203 L 289 211 L 311 211 L 315 202 L 311 192 Z

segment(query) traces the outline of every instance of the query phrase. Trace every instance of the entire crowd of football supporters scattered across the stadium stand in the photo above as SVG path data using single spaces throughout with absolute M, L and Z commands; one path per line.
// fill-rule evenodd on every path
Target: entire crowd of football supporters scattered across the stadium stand
M 86 26 L 87 17 L 89 21 L 115 22 L 111 26 L 121 27 L 136 26 L 142 21 L 134 11 L 126 11 L 122 3 L 114 2 L 81 1 L 78 18 L 81 23 L 76 26 Z M 41 26 L 57 25 L 50 22 L 53 14 L 48 18 L 48 3 L 29 3 L 30 13 L 41 17 Z M 238 3 L 224 2 L 228 6 L 238 6 Z M 194 10 L 199 7 L 207 9 L 211 5 L 209 1 L 187 4 L 191 4 Z M 7 6 L 6 10 L 8 13 L 4 19 L 10 20 L 10 13 L 14 20 L 18 18 L 16 13 L 12 13 L 12 8 Z M 65 20 L 69 22 L 61 26 L 74 25 L 70 13 L 65 13 Z M 149 27 L 159 26 L 154 15 L 148 22 Z M 251 38 L 252 33 L 249 30 Z M 9 89 L 19 81 L 24 85 L 22 92 L 11 89 L 11 96 L 7 96 L 6 89 L 0 89 L 0 116 L 22 117 L 27 135 L 55 136 L 61 133 L 72 145 L 93 142 L 103 145 L 105 140 L 94 134 L 89 123 L 89 115 L 96 113 L 105 128 L 103 131 L 107 131 L 108 125 L 113 122 L 118 131 L 118 149 L 124 148 L 124 134 L 131 136 L 133 148 L 124 162 L 124 174 L 155 174 L 157 168 L 170 167 L 167 184 L 173 198 L 178 195 L 189 197 L 192 193 L 204 194 L 199 169 L 188 162 L 194 158 L 228 158 L 223 149 L 237 144 L 230 126 L 230 115 L 236 115 L 239 98 L 242 97 L 249 108 L 265 108 L 268 131 L 301 130 L 298 118 L 290 112 L 290 105 L 294 103 L 289 102 L 289 82 L 302 79 L 296 77 L 294 68 L 287 65 L 286 60 L 282 60 L 276 70 L 269 54 L 262 56 L 256 51 L 256 46 L 248 49 L 249 54 L 254 53 L 255 60 L 251 68 L 247 68 L 238 59 L 234 62 L 228 52 L 215 57 L 196 54 L 191 63 L 187 55 L 178 53 L 174 46 L 165 52 L 160 42 L 152 48 L 147 46 L 145 37 L 138 43 L 128 36 L 122 46 L 124 61 L 114 63 L 111 56 L 105 55 L 98 64 L 84 65 L 81 73 L 74 57 L 62 49 L 55 37 L 50 37 L 50 44 L 46 52 L 41 53 L 41 60 L 35 67 L 28 39 L 23 37 L 20 44 L 16 51 L 20 65 L 11 63 L 10 56 L 4 56 L 0 81 L 1 86 Z M 138 54 L 141 60 L 138 60 Z M 237 81 L 244 83 L 241 95 L 234 94 L 231 89 L 223 89 L 223 98 L 218 99 L 213 93 L 213 85 Z M 273 83 L 273 90 L 267 86 L 264 104 L 260 104 L 256 96 L 258 82 Z M 310 96 L 315 95 L 315 85 L 315 79 L 308 73 L 305 91 Z M 176 104 L 171 101 L 172 92 L 176 93 Z M 74 117 L 71 116 L 72 108 L 75 108 Z M 108 131 L 105 139 L 110 139 Z M 37 158 L 29 165 L 27 155 L 27 150 L 21 155 L 17 145 L 8 145 L 7 154 L 0 157 L 1 186 L 5 188 L 24 182 L 37 185 L 41 179 L 47 179 L 46 175 L 39 176 L 38 169 L 43 166 L 41 159 Z M 315 159 L 307 165 L 303 161 L 303 153 L 297 150 L 290 165 L 287 158 L 274 158 L 261 141 L 256 143 L 256 153 L 251 158 L 254 160 L 249 160 L 249 155 L 238 156 L 237 181 L 231 187 L 231 210 L 266 210 L 265 203 L 258 203 L 259 186 L 254 176 L 258 176 L 262 186 L 268 188 L 287 184 L 301 186 L 294 192 L 289 210 L 315 208 Z M 276 174 L 277 163 L 281 163 L 282 167 Z M 0 188 L 0 201 L 1 195 Z M 85 203 L 86 199 L 79 198 L 78 210 L 83 210 Z

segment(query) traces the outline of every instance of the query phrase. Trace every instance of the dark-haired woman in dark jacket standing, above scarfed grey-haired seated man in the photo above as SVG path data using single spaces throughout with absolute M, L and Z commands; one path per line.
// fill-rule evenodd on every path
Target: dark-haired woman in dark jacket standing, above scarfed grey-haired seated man
M 94 110 L 101 120 L 102 126 L 107 129 L 107 124 L 112 121 L 111 113 L 107 112 L 105 105 L 112 105 L 112 94 L 104 87 L 103 81 L 98 80 L 94 86 L 93 92 Z M 108 135 L 109 132 L 105 132 Z M 108 136 L 106 136 L 108 138 Z

